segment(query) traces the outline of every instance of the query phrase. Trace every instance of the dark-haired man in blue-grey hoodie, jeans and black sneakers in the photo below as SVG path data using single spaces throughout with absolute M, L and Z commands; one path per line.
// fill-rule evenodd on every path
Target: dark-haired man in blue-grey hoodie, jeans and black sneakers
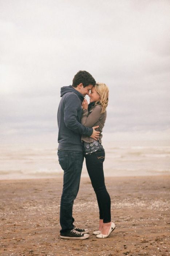
M 82 134 L 95 140 L 99 138 L 97 127 L 87 128 L 80 123 L 82 101 L 88 95 L 95 79 L 87 71 L 79 71 L 73 79 L 72 86 L 61 88 L 61 101 L 58 108 L 58 157 L 64 170 L 63 192 L 60 203 L 60 237 L 65 239 L 86 239 L 88 229 L 73 225 L 72 207 L 79 191 L 80 176 L 83 166 Z

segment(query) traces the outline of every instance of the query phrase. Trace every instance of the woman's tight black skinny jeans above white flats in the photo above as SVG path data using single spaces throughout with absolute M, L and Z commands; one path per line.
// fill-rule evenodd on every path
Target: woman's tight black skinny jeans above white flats
M 96 151 L 91 154 L 84 155 L 86 158 L 86 167 L 91 180 L 92 187 L 96 193 L 99 218 L 103 219 L 103 223 L 111 221 L 110 213 L 110 195 L 106 190 L 104 183 L 103 162 L 105 158 L 104 151 Z

